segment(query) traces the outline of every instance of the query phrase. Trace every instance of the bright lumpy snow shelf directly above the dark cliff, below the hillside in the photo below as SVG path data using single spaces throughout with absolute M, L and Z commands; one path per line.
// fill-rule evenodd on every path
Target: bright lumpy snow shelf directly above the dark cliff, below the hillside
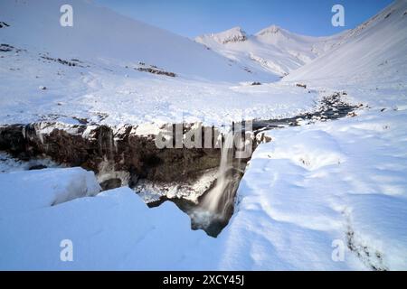
M 279 83 L 250 86 L 170 79 L 136 70 L 68 67 L 38 61 L 31 52 L 5 54 L 0 63 L 2 124 L 43 119 L 72 124 L 72 117 L 77 117 L 109 126 L 140 125 L 140 134 L 149 134 L 156 132 L 155 124 L 201 120 L 220 127 L 242 117 L 294 116 L 314 107 L 318 97 Z M 21 70 L 9 70 L 16 66 Z M 37 89 L 40 84 L 48 89 Z

